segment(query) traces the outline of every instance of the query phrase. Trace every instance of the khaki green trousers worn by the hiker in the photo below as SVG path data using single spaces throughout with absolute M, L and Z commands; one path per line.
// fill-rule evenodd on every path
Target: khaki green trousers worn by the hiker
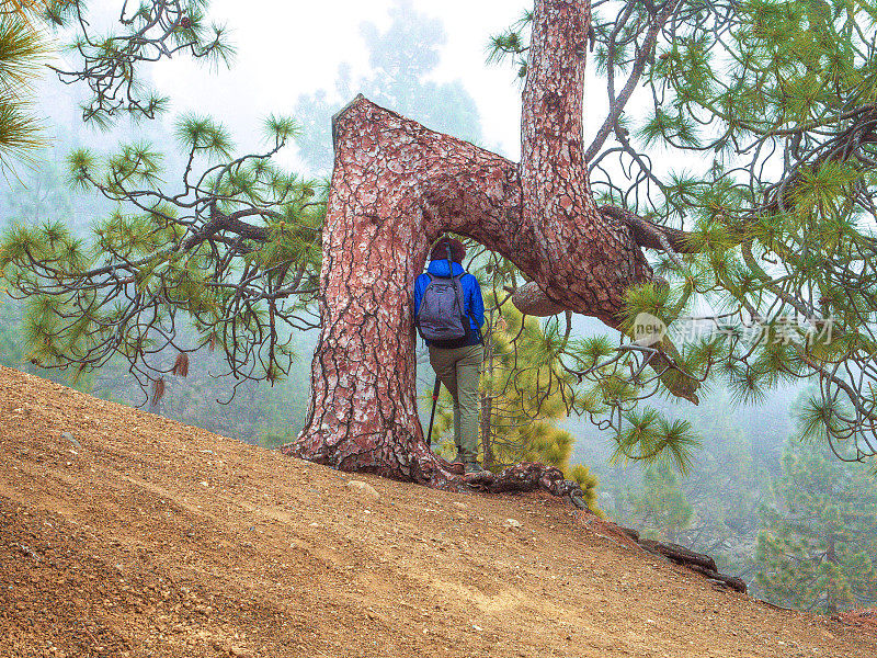
M 478 383 L 482 344 L 449 350 L 430 345 L 430 364 L 454 398 L 454 443 L 464 462 L 478 458 Z

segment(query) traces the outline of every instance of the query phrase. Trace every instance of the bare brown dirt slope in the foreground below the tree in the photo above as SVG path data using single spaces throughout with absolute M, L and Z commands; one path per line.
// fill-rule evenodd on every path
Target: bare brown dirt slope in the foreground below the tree
M 877 656 L 563 501 L 350 479 L 0 368 L 0 656 Z

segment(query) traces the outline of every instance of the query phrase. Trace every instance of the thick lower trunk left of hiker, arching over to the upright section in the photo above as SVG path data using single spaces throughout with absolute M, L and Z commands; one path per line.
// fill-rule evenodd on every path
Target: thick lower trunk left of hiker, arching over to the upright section
M 417 415 L 413 281 L 430 243 L 446 230 L 509 256 L 527 241 L 517 171 L 362 97 L 333 128 L 314 397 L 305 429 L 284 452 L 441 484 L 435 479 L 446 474 Z

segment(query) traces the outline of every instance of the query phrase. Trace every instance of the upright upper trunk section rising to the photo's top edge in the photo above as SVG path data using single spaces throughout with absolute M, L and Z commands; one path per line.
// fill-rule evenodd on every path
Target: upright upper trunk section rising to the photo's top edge
M 543 292 L 617 327 L 625 291 L 651 270 L 630 229 L 601 215 L 591 195 L 582 134 L 589 26 L 590 2 L 536 2 L 522 113 L 523 212 L 536 234 Z

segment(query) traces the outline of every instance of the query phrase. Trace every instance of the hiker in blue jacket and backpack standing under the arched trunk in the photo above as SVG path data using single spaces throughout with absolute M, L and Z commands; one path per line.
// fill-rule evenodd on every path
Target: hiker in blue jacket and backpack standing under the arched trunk
M 414 282 L 414 321 L 430 348 L 430 364 L 454 398 L 456 462 L 466 473 L 478 464 L 478 384 L 485 347 L 485 302 L 478 280 L 463 269 L 466 247 L 442 238 L 426 272 Z

